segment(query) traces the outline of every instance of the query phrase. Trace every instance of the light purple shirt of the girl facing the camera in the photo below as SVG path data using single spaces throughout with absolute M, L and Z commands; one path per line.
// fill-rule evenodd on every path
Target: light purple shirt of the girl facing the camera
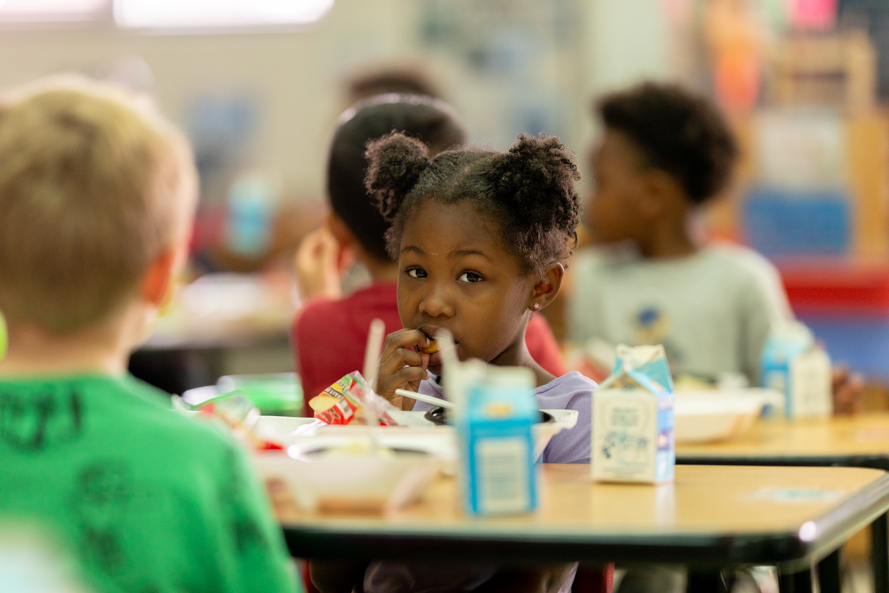
M 549 381 L 534 389 L 537 404 L 541 410 L 576 410 L 577 425 L 570 430 L 558 433 L 543 451 L 544 463 L 589 463 L 590 430 L 592 429 L 593 391 L 595 381 L 574 371 Z M 420 393 L 425 396 L 445 397 L 445 389 L 434 379 L 420 381 Z M 416 402 L 414 412 L 431 410 L 434 405 Z

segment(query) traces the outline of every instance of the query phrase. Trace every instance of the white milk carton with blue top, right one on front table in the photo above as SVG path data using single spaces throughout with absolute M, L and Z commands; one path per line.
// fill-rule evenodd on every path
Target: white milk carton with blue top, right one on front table
M 593 394 L 593 479 L 669 482 L 676 465 L 673 426 L 673 380 L 663 346 L 618 346 L 614 372 Z

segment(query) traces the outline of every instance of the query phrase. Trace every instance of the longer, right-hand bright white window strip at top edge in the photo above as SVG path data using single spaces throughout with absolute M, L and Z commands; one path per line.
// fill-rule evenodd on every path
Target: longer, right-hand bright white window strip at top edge
M 27 0 L 20 0 L 25 2 Z M 333 0 L 113 0 L 120 28 L 201 29 L 303 25 Z

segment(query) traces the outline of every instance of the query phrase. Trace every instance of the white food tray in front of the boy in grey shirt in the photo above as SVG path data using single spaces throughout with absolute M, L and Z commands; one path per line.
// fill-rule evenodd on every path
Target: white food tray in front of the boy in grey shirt
M 673 411 L 678 444 L 712 443 L 739 437 L 774 401 L 769 389 L 677 391 Z

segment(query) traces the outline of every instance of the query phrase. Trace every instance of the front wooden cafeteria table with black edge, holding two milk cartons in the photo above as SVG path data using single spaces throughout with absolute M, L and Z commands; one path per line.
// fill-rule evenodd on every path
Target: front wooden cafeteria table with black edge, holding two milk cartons
M 542 509 L 527 517 L 465 517 L 455 480 L 439 477 L 388 516 L 292 508 L 279 519 L 294 557 L 777 565 L 782 585 L 803 590 L 814 563 L 889 509 L 877 469 L 677 466 L 659 486 L 593 484 L 589 465 L 541 473 Z

